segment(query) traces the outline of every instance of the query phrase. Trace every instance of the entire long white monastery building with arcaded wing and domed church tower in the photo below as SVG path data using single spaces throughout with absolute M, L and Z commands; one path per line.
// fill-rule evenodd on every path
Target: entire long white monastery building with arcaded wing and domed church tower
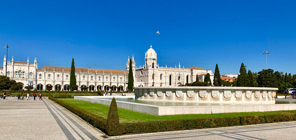
M 46 86 L 52 86 L 52 90 L 70 90 L 70 70 L 71 67 L 44 66 L 38 69 L 37 59 L 34 63 L 27 62 L 7 62 L 6 56 L 3 60 L 3 68 L 0 67 L 0 75 L 5 75 L 15 80 L 23 89 L 25 86 L 33 86 L 37 90 L 46 90 Z M 132 70 L 134 76 L 134 86 L 179 86 L 196 81 L 203 82 L 207 73 L 213 81 L 212 70 L 200 67 L 178 68 L 159 67 L 157 64 L 157 54 L 152 46 L 145 53 L 145 65 L 136 68 L 136 63 L 132 57 Z M 7 66 L 6 66 L 7 62 Z M 76 90 L 88 87 L 89 91 L 125 91 L 128 85 L 130 59 L 126 63 L 126 70 L 104 70 L 75 67 Z M 213 82 L 212 82 L 213 83 Z

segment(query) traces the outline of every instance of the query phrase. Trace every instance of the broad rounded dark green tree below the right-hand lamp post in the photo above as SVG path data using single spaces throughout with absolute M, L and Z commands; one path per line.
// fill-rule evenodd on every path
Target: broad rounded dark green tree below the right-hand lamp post
M 279 85 L 276 80 L 276 75 L 274 74 L 274 70 L 267 69 L 258 72 L 258 87 L 269 87 L 269 88 L 277 88 Z

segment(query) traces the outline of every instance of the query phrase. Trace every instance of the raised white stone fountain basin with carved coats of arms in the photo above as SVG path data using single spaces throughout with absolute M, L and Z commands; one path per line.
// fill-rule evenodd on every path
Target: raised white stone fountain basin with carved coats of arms
M 217 86 L 159 86 L 134 87 L 135 99 L 151 101 L 200 103 L 275 103 L 278 88 L 217 87 Z

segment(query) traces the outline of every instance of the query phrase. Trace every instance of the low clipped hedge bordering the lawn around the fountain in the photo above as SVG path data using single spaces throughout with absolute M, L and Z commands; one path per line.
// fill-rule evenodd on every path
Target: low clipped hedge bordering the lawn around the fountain
M 241 117 L 223 117 L 223 118 L 196 118 L 196 119 L 179 119 L 179 120 L 155 120 L 138 123 L 120 123 L 119 128 L 108 132 L 105 129 L 106 119 L 82 110 L 76 106 L 65 103 L 59 99 L 49 97 L 49 99 L 57 102 L 67 110 L 81 117 L 94 127 L 102 130 L 109 136 L 118 136 L 123 134 L 153 133 L 176 130 L 191 130 L 203 128 L 218 128 L 239 125 L 253 125 L 263 123 L 275 123 L 295 121 L 296 113 L 278 114 L 278 115 L 257 115 L 257 116 L 241 116 Z

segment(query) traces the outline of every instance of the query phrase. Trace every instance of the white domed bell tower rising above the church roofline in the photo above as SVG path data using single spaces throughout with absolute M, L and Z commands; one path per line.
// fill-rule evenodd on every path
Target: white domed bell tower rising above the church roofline
M 152 45 L 150 46 L 150 49 L 147 50 L 145 53 L 145 68 L 156 68 L 157 66 L 157 54 L 152 49 Z

